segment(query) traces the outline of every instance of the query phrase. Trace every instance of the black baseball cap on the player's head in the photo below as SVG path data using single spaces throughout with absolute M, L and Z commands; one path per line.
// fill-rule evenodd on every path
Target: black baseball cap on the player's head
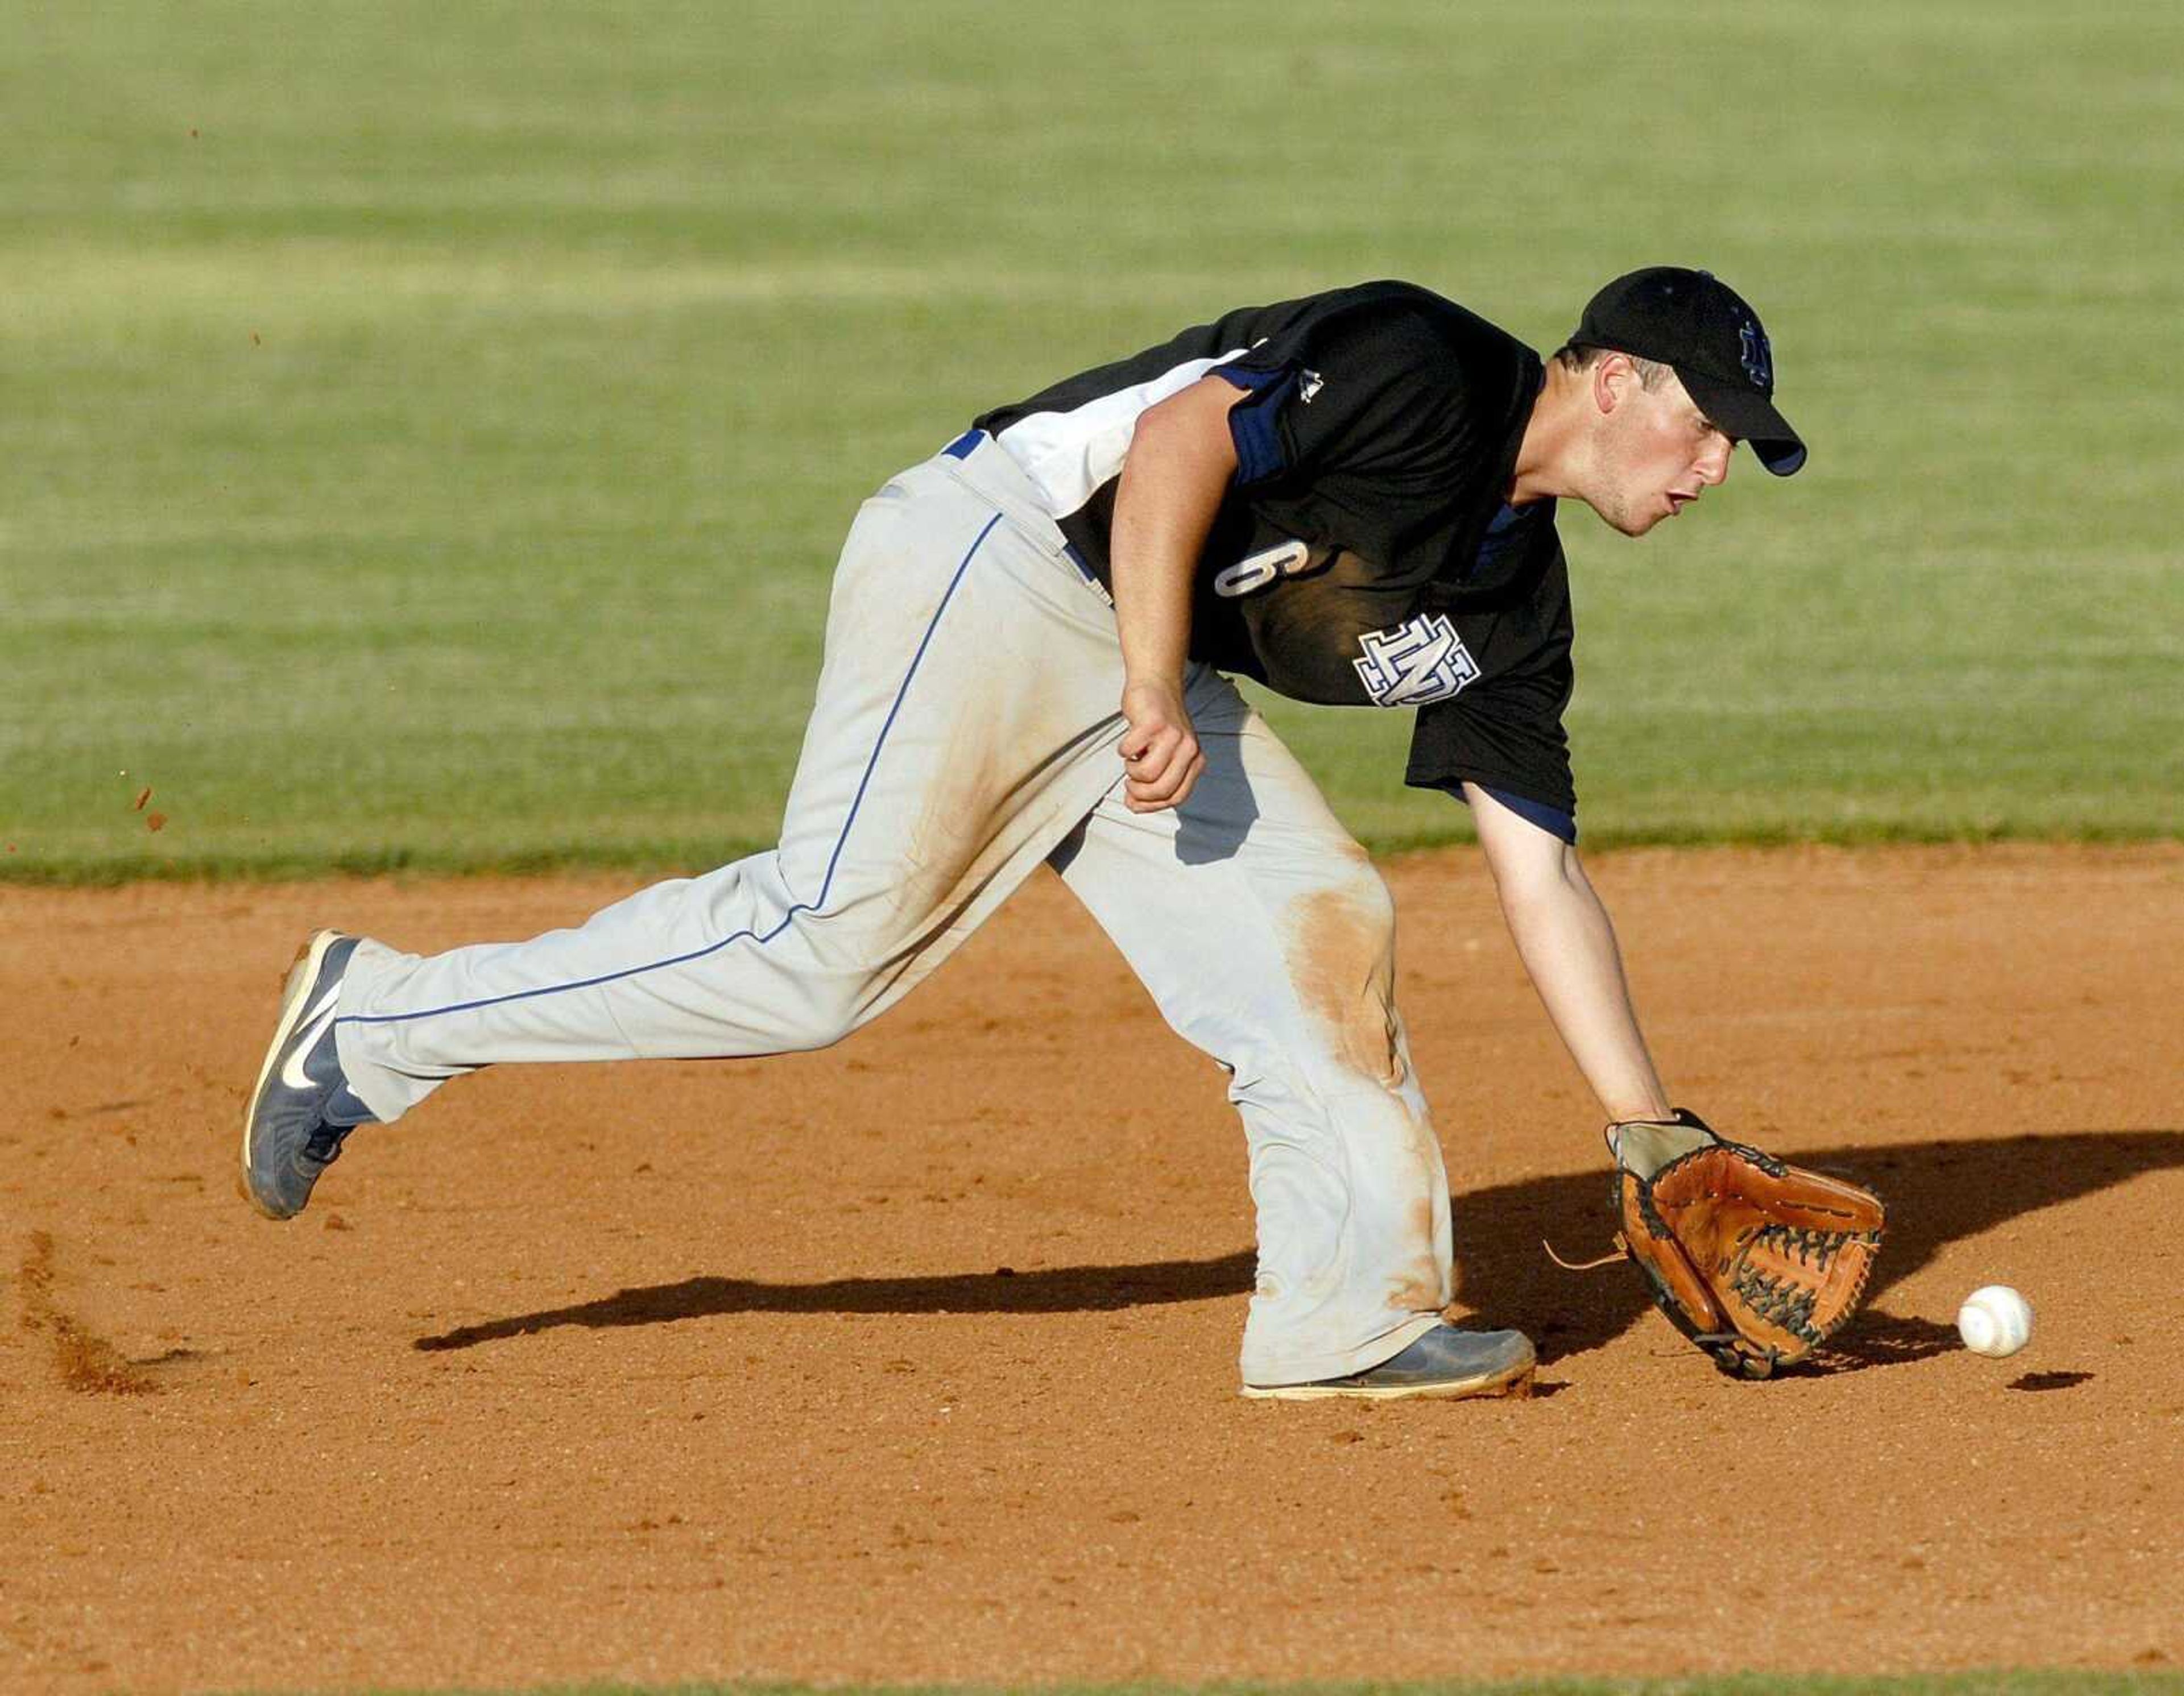
M 1804 465 L 1804 441 L 1773 404 L 1760 316 L 1712 271 L 1655 264 L 1616 277 L 1586 306 L 1570 343 L 1673 367 L 1699 410 L 1749 441 L 1760 465 L 1778 478 Z

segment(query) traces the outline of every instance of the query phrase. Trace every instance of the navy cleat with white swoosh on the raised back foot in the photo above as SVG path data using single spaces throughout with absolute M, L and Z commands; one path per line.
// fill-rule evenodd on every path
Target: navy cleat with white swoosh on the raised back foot
M 282 989 L 273 1046 L 242 1115 L 242 1196 L 266 1218 L 301 1214 L 319 1172 L 341 1157 L 341 1139 L 371 1124 L 334 1050 L 334 1004 L 354 952 L 354 936 L 321 930 Z

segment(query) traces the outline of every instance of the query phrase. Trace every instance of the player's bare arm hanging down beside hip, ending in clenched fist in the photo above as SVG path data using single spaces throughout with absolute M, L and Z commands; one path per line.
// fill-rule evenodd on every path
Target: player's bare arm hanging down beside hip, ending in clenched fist
M 1201 378 L 1138 419 L 1116 487 L 1109 568 L 1123 640 L 1125 803 L 1173 808 L 1190 795 L 1206 757 L 1184 709 L 1190 653 L 1190 578 L 1230 478 L 1236 443 L 1227 410 L 1236 391 Z

